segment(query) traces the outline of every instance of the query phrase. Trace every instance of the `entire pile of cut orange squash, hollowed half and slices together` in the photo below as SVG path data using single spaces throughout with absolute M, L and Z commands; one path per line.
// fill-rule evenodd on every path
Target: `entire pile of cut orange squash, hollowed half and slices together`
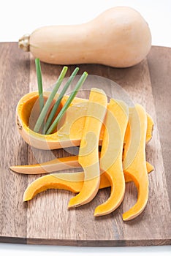
M 45 92 L 48 97 L 50 92 Z M 152 138 L 153 120 L 141 105 L 128 108 L 116 99 L 107 102 L 102 89 L 93 88 L 89 99 L 75 97 L 66 110 L 63 124 L 51 135 L 42 135 L 29 127 L 31 110 L 37 101 L 37 91 L 26 94 L 18 102 L 16 124 L 23 139 L 41 149 L 80 146 L 78 156 L 56 158 L 37 165 L 11 166 L 24 174 L 51 173 L 28 185 L 23 200 L 28 201 L 47 189 L 66 189 L 77 193 L 68 208 L 82 206 L 94 199 L 99 189 L 111 187 L 110 197 L 97 206 L 94 216 L 110 214 L 121 205 L 125 184 L 134 181 L 137 203 L 123 213 L 123 220 L 134 219 L 148 202 L 148 173 L 153 166 L 146 162 L 145 145 Z M 56 94 L 56 100 L 58 94 Z M 61 108 L 68 96 L 61 100 Z M 99 145 L 102 150 L 99 152 Z M 83 167 L 74 173 L 58 170 Z

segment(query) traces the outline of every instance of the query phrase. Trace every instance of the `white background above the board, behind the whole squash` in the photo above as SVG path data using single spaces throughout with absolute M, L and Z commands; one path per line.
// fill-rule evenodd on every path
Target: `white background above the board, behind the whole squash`
M 0 42 L 18 41 L 39 26 L 85 23 L 110 7 L 125 5 L 147 20 L 153 45 L 171 47 L 171 0 L 1 0 Z

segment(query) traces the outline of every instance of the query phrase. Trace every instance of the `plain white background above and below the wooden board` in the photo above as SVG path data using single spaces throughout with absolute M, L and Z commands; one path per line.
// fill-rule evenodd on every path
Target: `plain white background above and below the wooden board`
M 4 0 L 0 42 L 14 42 L 39 26 L 85 23 L 114 6 L 133 7 L 147 20 L 152 44 L 171 47 L 171 0 Z M 170 255 L 170 246 L 91 248 L 0 244 L 0 255 Z

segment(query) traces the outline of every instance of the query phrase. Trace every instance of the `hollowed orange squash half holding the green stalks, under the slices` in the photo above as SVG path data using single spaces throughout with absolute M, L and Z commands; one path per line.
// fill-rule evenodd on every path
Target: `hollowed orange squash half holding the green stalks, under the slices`
M 45 97 L 48 97 L 50 92 L 44 92 Z M 56 94 L 56 98 L 58 94 Z M 56 100 L 55 98 L 55 100 Z M 37 91 L 30 92 L 24 95 L 18 102 L 16 108 L 16 124 L 18 127 L 18 132 L 23 137 L 23 140 L 26 141 L 31 146 L 41 149 L 57 149 L 64 148 L 69 146 L 79 146 L 80 138 L 83 133 L 83 127 L 85 123 L 85 116 L 87 111 L 88 99 L 81 99 L 75 97 L 69 109 L 66 111 L 64 124 L 61 126 L 58 131 L 54 132 L 51 135 L 41 135 L 37 132 L 34 132 L 30 127 L 32 117 L 37 117 L 37 115 L 32 115 L 31 111 L 34 111 L 34 104 L 37 102 L 38 93 Z M 68 99 L 68 96 L 64 96 L 61 101 L 62 108 L 64 103 Z M 146 135 L 146 142 L 151 139 L 153 132 L 153 120 L 148 115 L 148 132 Z M 127 129 L 126 129 L 127 130 Z M 104 133 L 104 126 L 102 127 L 99 144 L 102 143 Z M 126 136 L 125 136 L 126 140 Z

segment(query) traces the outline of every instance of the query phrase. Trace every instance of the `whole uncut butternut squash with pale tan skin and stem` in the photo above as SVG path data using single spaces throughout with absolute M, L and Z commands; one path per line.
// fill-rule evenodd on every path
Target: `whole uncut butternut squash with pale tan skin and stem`
M 18 45 L 50 64 L 131 67 L 151 49 L 151 31 L 136 10 L 113 7 L 85 24 L 39 28 Z

